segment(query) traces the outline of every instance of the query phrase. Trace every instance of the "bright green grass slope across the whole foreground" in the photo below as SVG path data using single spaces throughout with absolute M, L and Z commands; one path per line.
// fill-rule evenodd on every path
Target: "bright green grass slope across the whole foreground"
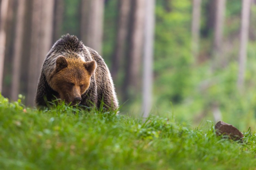
M 244 142 L 174 120 L 146 121 L 66 105 L 38 111 L 0 96 L 0 169 L 255 169 Z

